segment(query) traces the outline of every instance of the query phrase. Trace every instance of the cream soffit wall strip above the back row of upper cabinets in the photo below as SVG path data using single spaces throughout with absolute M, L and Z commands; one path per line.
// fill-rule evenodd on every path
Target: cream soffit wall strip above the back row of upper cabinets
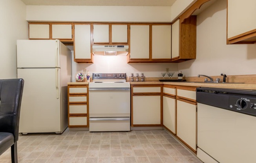
M 28 21 L 170 22 L 171 7 L 27 5 Z

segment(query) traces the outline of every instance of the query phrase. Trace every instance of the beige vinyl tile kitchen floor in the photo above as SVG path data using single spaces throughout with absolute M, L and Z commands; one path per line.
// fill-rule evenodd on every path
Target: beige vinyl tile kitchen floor
M 201 163 L 166 130 L 69 131 L 27 134 L 18 140 L 19 163 Z M 11 163 L 11 150 L 0 156 Z

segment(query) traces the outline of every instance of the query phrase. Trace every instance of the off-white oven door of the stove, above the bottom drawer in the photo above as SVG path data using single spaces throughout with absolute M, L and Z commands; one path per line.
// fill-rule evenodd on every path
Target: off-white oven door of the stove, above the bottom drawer
M 89 88 L 89 117 L 130 117 L 130 88 Z

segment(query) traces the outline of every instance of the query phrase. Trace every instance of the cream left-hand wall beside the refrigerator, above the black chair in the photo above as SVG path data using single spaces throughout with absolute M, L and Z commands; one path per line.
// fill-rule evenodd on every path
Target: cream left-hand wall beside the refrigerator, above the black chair
M 0 0 L 0 79 L 17 78 L 16 40 L 28 39 L 26 5 L 20 0 Z

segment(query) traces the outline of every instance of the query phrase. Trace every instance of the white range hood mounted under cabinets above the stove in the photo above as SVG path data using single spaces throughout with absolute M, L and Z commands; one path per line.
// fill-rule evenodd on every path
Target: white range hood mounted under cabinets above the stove
M 92 45 L 92 52 L 94 55 L 126 56 L 128 48 L 128 45 Z

